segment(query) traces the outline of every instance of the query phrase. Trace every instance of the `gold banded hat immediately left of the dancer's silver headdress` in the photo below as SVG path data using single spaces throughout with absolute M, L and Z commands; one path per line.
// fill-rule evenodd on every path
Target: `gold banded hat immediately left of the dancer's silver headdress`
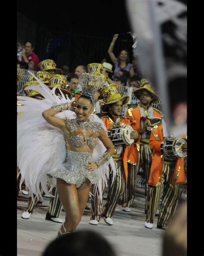
M 57 86 L 56 92 L 59 92 L 58 88 L 65 95 L 67 94 L 69 99 L 72 99 L 72 93 L 68 90 L 69 86 L 66 83 L 66 77 L 62 75 L 52 75 L 49 79 L 49 89 L 53 89 L 53 87 Z

